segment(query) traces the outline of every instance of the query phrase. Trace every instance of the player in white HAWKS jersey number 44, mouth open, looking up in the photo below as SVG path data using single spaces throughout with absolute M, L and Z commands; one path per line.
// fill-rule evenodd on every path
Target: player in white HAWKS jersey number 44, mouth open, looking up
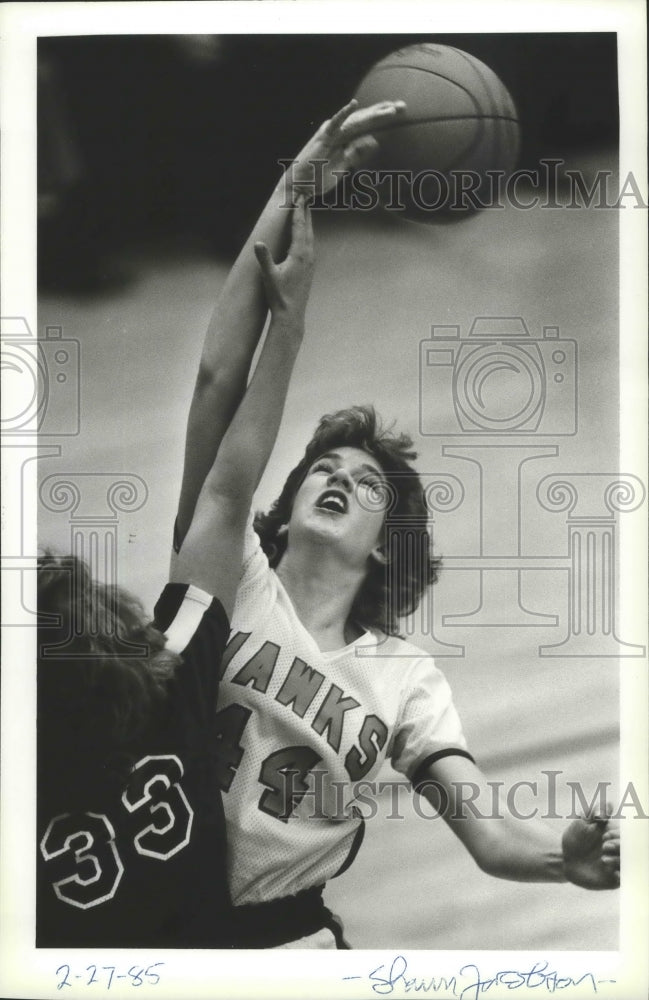
M 351 104 L 325 123 L 281 179 L 249 244 L 263 239 L 276 252 L 286 199 L 332 187 L 336 171 L 372 147 L 371 129 L 399 113 L 398 103 L 367 111 Z M 249 256 L 244 248 L 221 303 L 241 331 L 229 375 L 225 368 L 235 389 L 245 384 L 265 316 Z M 210 384 L 228 363 L 218 332 L 208 334 L 192 403 L 177 541 L 214 448 Z M 217 716 L 241 946 L 345 946 L 322 888 L 353 859 L 359 783 L 386 758 L 486 872 L 592 889 L 619 884 L 619 834 L 606 817 L 577 820 L 559 838 L 542 825 L 462 808 L 462 788 L 486 795 L 486 779 L 444 677 L 395 634 L 435 576 L 414 457 L 410 440 L 381 430 L 371 408 L 323 418 L 257 520 L 258 536 L 249 529 Z

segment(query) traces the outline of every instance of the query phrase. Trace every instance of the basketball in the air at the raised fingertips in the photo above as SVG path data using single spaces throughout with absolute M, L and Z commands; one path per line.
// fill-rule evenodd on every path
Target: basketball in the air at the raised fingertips
M 392 52 L 370 69 L 355 97 L 361 108 L 406 102 L 403 116 L 375 130 L 379 148 L 368 164 L 380 172 L 384 206 L 406 218 L 466 218 L 496 197 L 497 177 L 488 172 L 507 175 L 516 166 L 514 102 L 493 70 L 467 52 L 434 43 Z

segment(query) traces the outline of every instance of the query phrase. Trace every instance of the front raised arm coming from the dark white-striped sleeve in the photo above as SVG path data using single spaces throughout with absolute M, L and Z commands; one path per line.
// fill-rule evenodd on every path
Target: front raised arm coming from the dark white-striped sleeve
M 275 263 L 265 243 L 257 243 L 254 266 L 271 310 L 268 334 L 254 375 L 207 473 L 170 579 L 193 583 L 217 596 L 231 613 L 239 581 L 243 535 L 252 496 L 270 456 L 284 401 L 304 334 L 313 275 L 313 229 L 304 196 L 292 215 L 291 244 L 285 261 Z

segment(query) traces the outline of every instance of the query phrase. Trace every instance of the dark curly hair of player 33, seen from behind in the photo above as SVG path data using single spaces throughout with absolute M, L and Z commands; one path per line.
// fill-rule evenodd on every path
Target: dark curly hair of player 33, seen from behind
M 40 556 L 37 593 L 39 739 L 90 769 L 108 752 L 119 757 L 166 711 L 180 659 L 137 598 L 93 580 L 75 556 Z

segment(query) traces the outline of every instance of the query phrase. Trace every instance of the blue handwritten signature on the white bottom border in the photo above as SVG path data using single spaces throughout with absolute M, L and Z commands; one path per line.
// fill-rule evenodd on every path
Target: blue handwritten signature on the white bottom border
M 364 976 L 345 976 L 344 979 L 364 979 Z M 525 971 L 519 969 L 501 969 L 492 976 L 483 976 L 477 965 L 463 965 L 452 976 L 412 976 L 408 975 L 408 963 L 403 955 L 397 955 L 391 965 L 379 965 L 367 976 L 372 990 L 379 996 L 390 996 L 395 991 L 402 993 L 443 993 L 446 996 L 459 997 L 460 1000 L 479 1000 L 492 986 L 501 985 L 508 990 L 545 987 L 544 992 L 554 993 L 571 986 L 592 988 L 597 993 L 598 987 L 614 983 L 614 979 L 595 979 L 592 972 L 584 972 L 578 978 L 563 976 L 556 969 L 551 969 L 548 962 L 535 962 Z

